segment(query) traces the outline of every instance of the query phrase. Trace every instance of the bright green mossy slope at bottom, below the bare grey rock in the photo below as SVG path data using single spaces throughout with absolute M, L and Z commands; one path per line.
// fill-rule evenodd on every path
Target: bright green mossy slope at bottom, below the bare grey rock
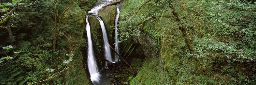
M 145 59 L 141 70 L 132 79 L 130 85 L 163 85 L 172 84 L 168 74 L 163 71 L 157 59 Z

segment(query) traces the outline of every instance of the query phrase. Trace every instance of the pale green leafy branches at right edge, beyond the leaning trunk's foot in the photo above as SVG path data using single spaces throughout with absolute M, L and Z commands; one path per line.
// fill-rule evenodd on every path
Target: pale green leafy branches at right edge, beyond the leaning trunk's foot
M 211 38 L 195 38 L 194 43 L 196 43 L 197 52 L 193 57 L 205 58 L 208 56 L 227 58 L 232 61 L 239 62 L 252 62 L 255 61 L 255 51 L 248 48 L 236 47 L 238 43 L 234 42 L 232 44 L 224 44 L 215 39 Z M 225 56 L 225 57 L 224 57 Z M 211 62 L 211 60 L 205 61 Z

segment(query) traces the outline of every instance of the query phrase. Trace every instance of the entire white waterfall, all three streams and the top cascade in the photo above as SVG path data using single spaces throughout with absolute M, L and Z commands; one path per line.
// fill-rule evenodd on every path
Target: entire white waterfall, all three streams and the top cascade
M 97 62 L 95 59 L 94 51 L 93 51 L 93 43 L 91 39 L 91 33 L 90 33 L 90 24 L 88 21 L 88 16 L 95 16 L 99 22 L 100 22 L 100 27 L 102 30 L 102 36 L 103 36 L 103 41 L 104 41 L 104 53 L 105 53 L 105 60 L 108 60 L 111 63 L 115 63 L 118 61 L 118 56 L 115 54 L 115 57 L 112 58 L 111 56 L 111 49 L 108 41 L 108 36 L 106 33 L 105 25 L 101 17 L 98 15 L 98 12 L 103 9 L 102 6 L 111 3 L 113 0 L 102 0 L 99 5 L 95 6 L 94 8 L 91 9 L 91 11 L 88 11 L 86 15 L 86 31 L 87 31 L 87 39 L 88 39 L 88 58 L 87 58 L 87 64 L 88 64 L 88 70 L 90 73 L 90 79 L 93 84 L 95 85 L 106 85 L 110 84 L 108 81 L 109 79 L 106 77 L 106 75 L 100 73 L 99 68 L 97 66 Z M 119 54 L 119 44 L 118 44 L 118 32 L 117 32 L 117 21 L 119 18 L 119 6 L 116 5 L 117 8 L 117 14 L 116 14 L 116 19 L 115 19 L 115 51 Z M 94 25 L 94 24 L 92 24 Z M 108 24 L 107 24 L 108 25 Z M 105 68 L 108 68 L 108 62 L 105 62 Z

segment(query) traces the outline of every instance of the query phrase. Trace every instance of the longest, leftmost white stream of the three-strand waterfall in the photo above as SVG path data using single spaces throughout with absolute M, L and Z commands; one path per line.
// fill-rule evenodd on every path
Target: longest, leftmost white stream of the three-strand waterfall
M 86 32 L 87 32 L 87 39 L 88 39 L 88 69 L 89 73 L 91 76 L 91 81 L 92 82 L 99 82 L 100 80 L 100 74 L 99 74 L 99 69 L 96 64 L 96 60 L 94 57 L 94 52 L 93 52 L 93 43 L 91 41 L 91 31 L 90 31 L 90 24 L 88 22 L 88 15 L 86 15 Z

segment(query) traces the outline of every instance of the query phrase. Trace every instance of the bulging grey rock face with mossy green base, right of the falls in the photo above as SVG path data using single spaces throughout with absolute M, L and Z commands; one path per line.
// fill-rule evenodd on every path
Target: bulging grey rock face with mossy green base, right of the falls
M 135 40 L 135 38 L 133 39 Z M 153 37 L 146 32 L 141 32 L 136 41 L 140 43 L 146 57 L 140 71 L 135 77 L 131 78 L 129 84 L 171 85 L 161 59 L 159 45 Z

